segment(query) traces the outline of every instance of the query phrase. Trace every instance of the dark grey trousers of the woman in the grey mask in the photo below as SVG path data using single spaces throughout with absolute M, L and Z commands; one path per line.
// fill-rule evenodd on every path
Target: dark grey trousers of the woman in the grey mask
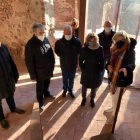
M 91 95 L 90 95 L 91 99 L 95 98 L 97 90 L 98 90 L 98 87 L 91 89 Z M 86 95 L 87 95 L 87 88 L 82 86 L 82 97 L 86 98 Z

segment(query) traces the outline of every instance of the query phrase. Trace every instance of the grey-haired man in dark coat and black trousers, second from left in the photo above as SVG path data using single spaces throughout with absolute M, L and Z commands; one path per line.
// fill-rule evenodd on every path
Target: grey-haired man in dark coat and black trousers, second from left
M 33 37 L 25 46 L 25 63 L 32 82 L 36 83 L 36 96 L 40 109 L 44 109 L 43 95 L 54 99 L 50 94 L 50 78 L 53 77 L 54 54 L 50 43 L 44 37 L 45 28 L 43 25 L 35 23 L 33 25 Z

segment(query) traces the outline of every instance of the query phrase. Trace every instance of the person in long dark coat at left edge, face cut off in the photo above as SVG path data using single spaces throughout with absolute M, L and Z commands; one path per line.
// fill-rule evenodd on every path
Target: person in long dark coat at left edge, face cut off
M 24 110 L 16 108 L 14 101 L 15 83 L 18 78 L 17 67 L 7 47 L 0 43 L 0 123 L 4 129 L 8 129 L 10 126 L 4 117 L 2 99 L 6 99 L 11 112 L 25 113 Z

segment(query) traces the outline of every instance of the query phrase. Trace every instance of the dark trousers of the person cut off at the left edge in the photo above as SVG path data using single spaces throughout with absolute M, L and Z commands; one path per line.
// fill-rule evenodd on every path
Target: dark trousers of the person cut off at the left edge
M 16 108 L 13 96 L 6 98 L 6 102 L 7 102 L 9 109 L 11 111 L 13 111 Z M 0 99 L 0 121 L 3 119 L 5 119 L 5 117 L 4 117 L 3 108 L 2 108 L 2 100 Z

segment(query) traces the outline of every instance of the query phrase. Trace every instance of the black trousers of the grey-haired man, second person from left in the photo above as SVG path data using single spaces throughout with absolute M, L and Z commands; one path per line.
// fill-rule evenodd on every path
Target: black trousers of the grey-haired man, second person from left
M 39 103 L 43 103 L 43 95 L 44 97 L 48 97 L 50 95 L 49 85 L 50 85 L 50 79 L 37 80 L 36 98 Z

